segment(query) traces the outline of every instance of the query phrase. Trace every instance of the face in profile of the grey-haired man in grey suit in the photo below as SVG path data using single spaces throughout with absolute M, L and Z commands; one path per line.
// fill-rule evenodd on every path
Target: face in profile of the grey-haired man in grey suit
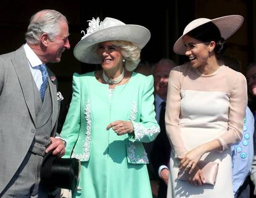
M 53 41 L 48 39 L 48 46 L 46 49 L 47 62 L 60 62 L 62 52 L 64 52 L 65 49 L 70 48 L 69 39 L 67 38 L 69 36 L 69 27 L 67 22 L 61 20 L 59 22 L 59 27 L 61 33 L 56 36 Z

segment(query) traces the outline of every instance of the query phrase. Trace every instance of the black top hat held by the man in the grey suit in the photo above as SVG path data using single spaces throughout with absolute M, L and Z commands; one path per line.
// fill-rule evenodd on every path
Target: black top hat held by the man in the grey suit
M 57 188 L 75 190 L 79 179 L 80 161 L 75 158 L 60 158 L 49 151 L 41 164 L 41 183 L 51 194 Z

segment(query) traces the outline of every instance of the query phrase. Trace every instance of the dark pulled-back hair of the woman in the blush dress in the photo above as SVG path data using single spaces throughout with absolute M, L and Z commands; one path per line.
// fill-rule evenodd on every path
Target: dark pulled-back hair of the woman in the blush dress
M 187 35 L 197 39 L 198 41 L 202 41 L 203 43 L 215 41 L 216 45 L 214 51 L 216 56 L 223 54 L 228 46 L 224 38 L 221 37 L 219 28 L 212 22 L 200 25 L 194 30 L 189 31 Z

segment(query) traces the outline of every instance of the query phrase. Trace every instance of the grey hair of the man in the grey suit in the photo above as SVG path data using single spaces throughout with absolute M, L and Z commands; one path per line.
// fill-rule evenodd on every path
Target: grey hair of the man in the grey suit
M 56 10 L 41 10 L 36 12 L 28 25 L 27 33 L 25 33 L 25 39 L 27 43 L 38 44 L 40 36 L 46 33 L 51 41 L 54 41 L 55 37 L 61 33 L 59 27 L 59 21 L 67 19 L 64 15 Z

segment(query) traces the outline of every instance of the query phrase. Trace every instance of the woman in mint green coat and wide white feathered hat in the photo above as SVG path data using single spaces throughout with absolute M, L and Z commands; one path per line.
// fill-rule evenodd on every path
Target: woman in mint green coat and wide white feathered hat
M 75 46 L 78 60 L 101 64 L 102 70 L 73 76 L 72 102 L 61 131 L 67 142 L 64 157 L 81 161 L 73 197 L 152 197 L 142 142 L 160 132 L 153 76 L 132 72 L 149 39 L 147 28 L 107 17 L 90 20 Z

